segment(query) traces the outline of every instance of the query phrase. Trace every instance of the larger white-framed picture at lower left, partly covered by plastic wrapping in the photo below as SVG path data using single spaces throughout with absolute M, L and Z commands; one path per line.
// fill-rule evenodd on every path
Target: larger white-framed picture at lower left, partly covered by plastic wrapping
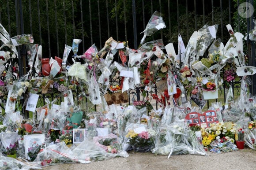
M 33 134 L 33 135 L 24 135 L 24 147 L 25 147 L 25 156 L 28 159 L 28 151 L 38 147 L 38 145 L 45 144 L 45 133 Z

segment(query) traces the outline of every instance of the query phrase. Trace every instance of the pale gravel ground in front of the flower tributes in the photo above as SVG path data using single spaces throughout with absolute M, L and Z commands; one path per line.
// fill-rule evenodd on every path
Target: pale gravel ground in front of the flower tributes
M 113 158 L 88 164 L 60 164 L 43 170 L 255 170 L 256 150 L 202 155 L 154 155 L 151 152 L 128 152 L 128 158 Z

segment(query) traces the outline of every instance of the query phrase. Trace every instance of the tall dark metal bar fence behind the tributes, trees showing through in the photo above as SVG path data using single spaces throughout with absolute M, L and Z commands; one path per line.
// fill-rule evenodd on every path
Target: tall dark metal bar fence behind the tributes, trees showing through
M 253 15 L 244 19 L 237 14 L 237 7 L 245 1 L 256 5 L 255 0 L 1 0 L 0 23 L 11 37 L 32 34 L 34 43 L 43 47 L 43 58 L 49 58 L 62 57 L 65 44 L 72 44 L 72 39 L 82 40 L 80 54 L 92 44 L 101 49 L 109 37 L 126 41 L 130 48 L 137 49 L 143 37 L 140 33 L 154 11 L 159 11 L 166 28 L 148 40 L 173 42 L 177 48 L 178 34 L 186 44 L 193 31 L 205 24 L 219 25 L 217 37 L 223 43 L 229 39 L 227 24 L 238 32 L 248 33 L 254 28 Z M 255 66 L 255 42 L 247 39 L 246 43 L 248 65 Z M 23 75 L 28 70 L 25 47 L 19 47 L 18 52 L 19 72 Z M 118 56 L 116 60 L 119 61 Z M 252 81 L 250 90 L 254 94 L 254 76 Z M 239 82 L 232 86 L 240 88 Z M 132 94 L 139 97 L 139 89 Z

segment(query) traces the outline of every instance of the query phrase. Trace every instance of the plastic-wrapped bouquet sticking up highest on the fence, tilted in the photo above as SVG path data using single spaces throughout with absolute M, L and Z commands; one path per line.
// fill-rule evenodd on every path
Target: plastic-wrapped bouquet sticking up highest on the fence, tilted
M 149 22 L 145 30 L 143 31 L 144 36 L 140 41 L 140 44 L 143 44 L 147 36 L 153 35 L 156 31 L 166 28 L 166 24 L 161 17 L 161 14 L 158 11 L 155 11 L 154 14 L 151 16 Z

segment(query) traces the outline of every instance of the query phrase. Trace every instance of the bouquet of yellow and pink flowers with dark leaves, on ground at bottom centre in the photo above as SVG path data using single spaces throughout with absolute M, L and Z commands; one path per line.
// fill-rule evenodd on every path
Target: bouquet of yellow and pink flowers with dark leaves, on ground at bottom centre
M 149 152 L 154 146 L 154 138 L 147 131 L 136 133 L 130 130 L 126 137 L 129 139 L 128 144 L 137 152 Z

